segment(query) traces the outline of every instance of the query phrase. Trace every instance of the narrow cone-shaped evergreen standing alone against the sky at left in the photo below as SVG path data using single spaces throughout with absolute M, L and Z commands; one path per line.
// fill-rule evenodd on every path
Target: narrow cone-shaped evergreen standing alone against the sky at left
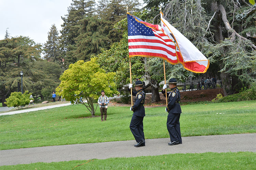
M 59 58 L 60 50 L 59 50 L 59 33 L 55 26 L 52 25 L 50 31 L 48 32 L 48 40 L 44 44 L 44 58 L 47 61 L 51 62 L 62 62 Z

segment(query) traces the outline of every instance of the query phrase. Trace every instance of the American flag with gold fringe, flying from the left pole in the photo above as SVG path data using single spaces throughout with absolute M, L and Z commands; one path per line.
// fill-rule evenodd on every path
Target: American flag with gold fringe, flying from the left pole
M 160 57 L 177 64 L 176 47 L 159 25 L 127 13 L 129 57 Z

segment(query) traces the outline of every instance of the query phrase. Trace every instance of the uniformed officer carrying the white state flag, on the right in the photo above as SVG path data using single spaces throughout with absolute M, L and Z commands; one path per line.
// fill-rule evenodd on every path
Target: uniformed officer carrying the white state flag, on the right
M 180 130 L 180 116 L 181 116 L 181 106 L 180 106 L 180 100 L 181 95 L 180 91 L 177 88 L 176 79 L 172 78 L 168 82 L 169 88 L 171 89 L 170 92 L 167 92 L 168 96 L 168 105 L 165 109 L 166 112 L 168 112 L 167 117 L 167 130 L 170 135 L 171 142 L 168 143 L 168 145 L 177 145 L 182 144 L 181 140 L 181 130 Z M 163 96 L 166 95 L 165 90 L 167 88 L 167 85 L 163 85 L 162 94 Z

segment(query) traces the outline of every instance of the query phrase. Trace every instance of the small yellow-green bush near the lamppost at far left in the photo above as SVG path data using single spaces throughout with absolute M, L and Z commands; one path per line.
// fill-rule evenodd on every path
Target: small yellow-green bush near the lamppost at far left
M 8 107 L 18 107 L 19 106 L 25 106 L 27 104 L 29 104 L 30 102 L 30 95 L 32 95 L 32 93 L 28 93 L 28 91 L 26 90 L 24 94 L 22 94 L 21 92 L 12 92 L 11 96 L 6 99 L 6 102 L 4 102 Z

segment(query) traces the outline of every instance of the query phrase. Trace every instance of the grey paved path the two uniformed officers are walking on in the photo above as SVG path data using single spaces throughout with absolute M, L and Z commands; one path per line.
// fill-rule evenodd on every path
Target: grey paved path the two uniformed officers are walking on
M 256 152 L 256 133 L 183 137 L 183 144 L 168 146 L 169 138 L 146 139 L 146 146 L 136 148 L 135 140 L 85 143 L 0 151 L 0 166 L 36 162 L 106 159 L 173 153 Z

